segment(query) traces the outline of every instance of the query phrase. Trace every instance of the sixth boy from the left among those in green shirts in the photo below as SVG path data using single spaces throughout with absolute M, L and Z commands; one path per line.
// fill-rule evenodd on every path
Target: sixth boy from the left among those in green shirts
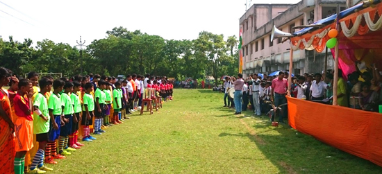
M 105 132 L 101 130 L 101 125 L 103 123 L 103 117 L 105 117 L 106 107 L 106 94 L 102 90 L 106 88 L 106 82 L 104 80 L 98 81 L 98 88 L 95 91 L 95 105 L 97 110 L 94 110 L 94 134 L 101 134 Z

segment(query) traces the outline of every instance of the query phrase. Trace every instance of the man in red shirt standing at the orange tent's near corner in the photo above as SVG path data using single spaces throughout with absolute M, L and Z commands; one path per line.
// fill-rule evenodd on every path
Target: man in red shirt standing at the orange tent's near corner
M 271 96 L 272 98 L 274 98 L 273 101 L 276 107 L 279 107 L 279 105 L 282 105 L 287 102 L 285 98 L 285 94 L 287 93 L 287 90 L 288 90 L 288 80 L 284 78 L 284 76 L 285 76 L 284 71 L 280 71 L 279 77 L 272 80 Z M 281 108 L 282 110 L 281 110 L 281 113 L 279 114 L 279 123 L 284 123 L 283 118 L 286 113 L 285 111 L 286 107 L 283 106 Z

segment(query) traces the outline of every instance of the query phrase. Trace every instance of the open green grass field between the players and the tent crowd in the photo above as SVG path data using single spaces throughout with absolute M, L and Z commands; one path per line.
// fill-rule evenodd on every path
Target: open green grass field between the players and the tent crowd
M 233 116 L 223 94 L 176 89 L 159 112 L 134 114 L 49 165 L 49 173 L 382 173 L 267 117 Z

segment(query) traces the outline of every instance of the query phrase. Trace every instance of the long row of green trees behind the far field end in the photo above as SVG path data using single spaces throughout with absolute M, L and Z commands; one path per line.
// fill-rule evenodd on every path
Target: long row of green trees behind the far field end
M 205 78 L 233 75 L 238 72 L 235 36 L 224 40 L 224 35 L 207 31 L 196 40 L 165 40 L 158 35 L 128 31 L 122 26 L 106 31 L 106 37 L 94 40 L 83 50 L 66 43 L 45 39 L 32 46 L 23 42 L 0 39 L 0 64 L 22 75 L 28 71 L 63 73 L 74 76 L 81 72 L 110 76 L 128 73 L 150 73 L 174 78 Z

